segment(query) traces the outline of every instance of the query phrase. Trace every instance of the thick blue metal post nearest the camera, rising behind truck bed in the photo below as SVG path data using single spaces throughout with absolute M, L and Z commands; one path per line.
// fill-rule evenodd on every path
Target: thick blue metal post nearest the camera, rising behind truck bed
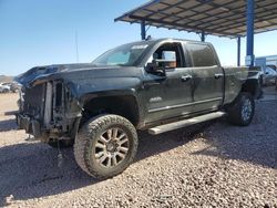
M 254 0 L 247 0 L 247 51 L 246 51 L 246 64 L 254 65 Z

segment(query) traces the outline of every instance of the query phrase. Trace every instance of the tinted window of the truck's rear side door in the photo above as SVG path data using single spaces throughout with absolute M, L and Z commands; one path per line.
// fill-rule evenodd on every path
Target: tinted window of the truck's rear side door
M 195 67 L 217 65 L 214 51 L 207 44 L 187 43 L 192 61 Z

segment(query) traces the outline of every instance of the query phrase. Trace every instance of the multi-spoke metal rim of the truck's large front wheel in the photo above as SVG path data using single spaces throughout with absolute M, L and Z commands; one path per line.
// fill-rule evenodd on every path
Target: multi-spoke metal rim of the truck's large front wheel
M 94 157 L 102 167 L 115 167 L 125 159 L 129 146 L 129 137 L 123 129 L 109 128 L 98 138 Z

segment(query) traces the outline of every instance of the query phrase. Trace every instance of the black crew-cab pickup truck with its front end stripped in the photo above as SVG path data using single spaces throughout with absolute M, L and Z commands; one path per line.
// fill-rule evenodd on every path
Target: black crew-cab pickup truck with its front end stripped
M 247 126 L 258 74 L 223 67 L 209 43 L 134 42 L 92 63 L 37 66 L 19 75 L 17 122 L 53 147 L 74 145 L 79 166 L 106 178 L 134 159 L 137 129 L 156 135 L 222 116 Z

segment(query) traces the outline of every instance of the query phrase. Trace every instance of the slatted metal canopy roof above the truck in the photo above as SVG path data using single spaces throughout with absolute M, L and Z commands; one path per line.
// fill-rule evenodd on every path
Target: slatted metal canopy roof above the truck
M 218 37 L 245 37 L 246 0 L 153 0 L 115 19 Z M 254 32 L 277 30 L 277 0 L 255 0 Z

